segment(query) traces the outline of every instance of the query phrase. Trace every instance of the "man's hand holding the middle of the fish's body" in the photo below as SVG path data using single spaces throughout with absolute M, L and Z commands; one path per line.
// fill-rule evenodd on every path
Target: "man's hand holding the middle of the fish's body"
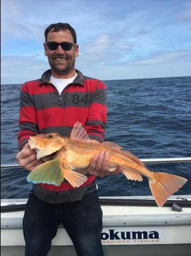
M 90 166 L 88 167 L 88 172 L 91 175 L 104 177 L 108 175 L 120 174 L 122 168 L 118 166 L 116 170 L 110 172 L 109 168 L 109 152 L 100 151 L 99 154 L 92 158 Z

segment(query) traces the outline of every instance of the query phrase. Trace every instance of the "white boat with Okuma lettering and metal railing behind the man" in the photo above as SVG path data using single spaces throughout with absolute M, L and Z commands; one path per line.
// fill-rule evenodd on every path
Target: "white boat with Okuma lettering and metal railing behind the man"
M 191 162 L 191 158 L 141 160 L 145 163 Z M 18 168 L 14 164 L 1 167 Z M 163 207 L 158 207 L 152 196 L 99 199 L 103 210 L 101 240 L 105 256 L 191 255 L 191 195 L 171 196 Z M 27 199 L 1 200 L 2 256 L 24 255 L 22 220 L 26 203 Z M 55 255 L 77 255 L 62 224 L 48 254 Z

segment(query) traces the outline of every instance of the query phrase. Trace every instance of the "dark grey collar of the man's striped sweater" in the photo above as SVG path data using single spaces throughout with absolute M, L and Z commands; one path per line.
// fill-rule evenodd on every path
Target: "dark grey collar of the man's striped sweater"
M 79 85 L 82 85 L 84 86 L 84 75 L 78 70 L 78 69 L 75 69 L 75 71 L 77 72 L 77 77 L 75 77 L 74 81 L 72 82 L 72 84 L 79 84 Z M 51 69 L 48 69 L 47 71 L 45 71 L 43 73 L 43 75 L 41 76 L 41 79 L 40 79 L 40 86 L 42 86 L 43 84 L 51 84 L 50 83 L 50 76 L 52 75 L 52 71 Z

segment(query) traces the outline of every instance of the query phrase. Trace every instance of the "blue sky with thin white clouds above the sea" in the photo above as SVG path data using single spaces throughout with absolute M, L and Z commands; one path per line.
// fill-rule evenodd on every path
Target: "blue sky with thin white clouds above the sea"
M 191 0 L 1 0 L 1 84 L 49 69 L 44 30 L 77 32 L 76 68 L 100 80 L 191 75 Z

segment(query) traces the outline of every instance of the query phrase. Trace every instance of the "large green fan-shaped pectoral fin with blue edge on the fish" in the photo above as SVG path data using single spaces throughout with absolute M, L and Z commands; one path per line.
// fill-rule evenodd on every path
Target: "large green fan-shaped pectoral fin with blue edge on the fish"
M 27 181 L 34 184 L 46 183 L 59 186 L 63 181 L 60 160 L 56 158 L 37 166 L 27 176 Z

